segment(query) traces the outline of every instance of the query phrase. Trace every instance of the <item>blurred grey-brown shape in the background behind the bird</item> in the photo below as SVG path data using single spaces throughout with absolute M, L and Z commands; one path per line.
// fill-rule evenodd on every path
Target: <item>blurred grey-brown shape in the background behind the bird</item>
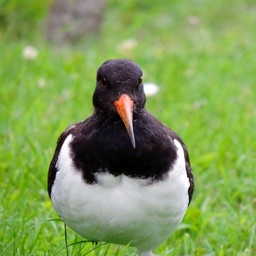
M 100 30 L 105 0 L 54 0 L 46 37 L 56 44 L 77 42 Z

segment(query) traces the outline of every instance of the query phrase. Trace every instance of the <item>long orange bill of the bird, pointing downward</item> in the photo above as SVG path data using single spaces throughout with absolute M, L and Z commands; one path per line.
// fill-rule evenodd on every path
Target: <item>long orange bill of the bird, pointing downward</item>
M 114 102 L 116 106 L 117 113 L 121 117 L 128 135 L 130 137 L 133 148 L 136 147 L 134 133 L 133 133 L 133 101 L 127 94 L 122 94 L 120 98 Z

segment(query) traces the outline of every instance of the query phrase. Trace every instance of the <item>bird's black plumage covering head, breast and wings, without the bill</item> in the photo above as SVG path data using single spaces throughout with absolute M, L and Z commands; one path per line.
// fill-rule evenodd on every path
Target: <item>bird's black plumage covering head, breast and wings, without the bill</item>
M 123 93 L 128 93 L 135 103 L 135 149 L 113 104 Z M 68 127 L 58 140 L 49 169 L 49 195 L 62 143 L 69 134 L 74 134 L 72 157 L 77 169 L 83 172 L 84 181 L 87 183 L 97 182 L 93 174 L 99 171 L 108 171 L 113 175 L 125 174 L 134 178 L 150 178 L 153 181 L 161 180 L 176 159 L 176 147 L 172 139 L 177 139 L 185 151 L 191 200 L 194 183 L 186 146 L 175 132 L 145 110 L 145 102 L 142 71 L 136 63 L 127 59 L 103 63 L 97 72 L 93 115 L 84 122 Z

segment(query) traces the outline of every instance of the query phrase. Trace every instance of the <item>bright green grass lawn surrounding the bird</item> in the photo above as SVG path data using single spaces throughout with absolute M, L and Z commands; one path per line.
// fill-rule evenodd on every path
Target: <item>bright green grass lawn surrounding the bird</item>
M 63 223 L 49 221 L 58 218 L 49 162 L 59 134 L 92 113 L 96 69 L 123 57 L 159 84 L 147 109 L 184 139 L 195 176 L 185 219 L 155 253 L 256 255 L 256 4 L 123 2 L 110 1 L 102 33 L 75 47 L 47 45 L 34 30 L 0 34 L 0 255 L 66 254 Z M 120 50 L 127 39 L 136 48 Z M 34 60 L 22 58 L 28 44 Z M 69 255 L 136 253 L 67 232 Z

